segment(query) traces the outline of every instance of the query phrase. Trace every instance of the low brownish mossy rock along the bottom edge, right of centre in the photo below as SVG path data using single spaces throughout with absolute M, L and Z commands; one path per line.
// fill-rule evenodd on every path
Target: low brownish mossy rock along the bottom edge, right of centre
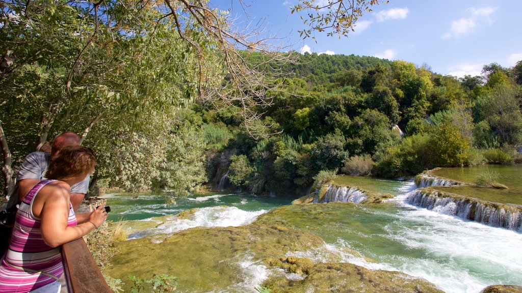
M 400 272 L 372 271 L 350 263 L 319 263 L 306 268 L 303 279 L 270 277 L 263 283 L 272 293 L 401 292 L 443 293 L 435 285 Z M 289 271 L 291 272 L 291 271 Z

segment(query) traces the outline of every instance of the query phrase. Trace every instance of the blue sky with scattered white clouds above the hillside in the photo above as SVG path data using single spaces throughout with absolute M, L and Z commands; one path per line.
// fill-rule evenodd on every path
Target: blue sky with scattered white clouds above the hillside
M 327 0 L 316 0 L 316 3 Z M 305 28 L 291 14 L 297 0 L 210 0 L 211 7 L 232 9 L 238 27 L 264 28 L 278 38 L 281 51 L 375 56 L 427 65 L 433 72 L 477 76 L 498 63 L 513 67 L 522 60 L 522 0 L 389 0 L 359 18 L 347 37 L 315 33 L 300 39 Z

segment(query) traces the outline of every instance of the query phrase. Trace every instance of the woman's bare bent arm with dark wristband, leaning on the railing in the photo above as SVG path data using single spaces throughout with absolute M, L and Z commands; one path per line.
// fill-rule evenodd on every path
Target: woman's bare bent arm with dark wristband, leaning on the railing
M 49 190 L 53 196 L 46 197 L 40 213 L 43 241 L 50 247 L 57 247 L 87 235 L 103 224 L 107 217 L 105 209 L 100 206 L 89 215 L 86 222 L 76 226 L 67 226 L 69 190 L 66 185 L 53 186 L 52 190 Z M 82 219 L 85 220 L 85 218 Z

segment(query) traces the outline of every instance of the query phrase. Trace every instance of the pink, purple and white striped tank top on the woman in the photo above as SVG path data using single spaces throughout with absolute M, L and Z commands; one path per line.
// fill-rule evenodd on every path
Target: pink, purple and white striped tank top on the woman
M 41 219 L 32 213 L 34 197 L 43 186 L 52 181 L 54 180 L 40 181 L 20 203 L 9 249 L 0 263 L 0 293 L 28 292 L 55 280 L 36 272 L 44 272 L 57 278 L 63 274 L 61 247 L 52 248 L 45 244 L 40 229 Z M 67 226 L 76 224 L 76 215 L 69 203 Z M 20 270 L 11 265 L 28 270 Z

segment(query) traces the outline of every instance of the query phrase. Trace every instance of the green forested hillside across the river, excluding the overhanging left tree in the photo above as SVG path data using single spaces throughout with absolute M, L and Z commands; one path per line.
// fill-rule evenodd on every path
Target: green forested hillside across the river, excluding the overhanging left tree
M 235 186 L 301 192 L 322 170 L 388 178 L 437 166 L 520 162 L 522 87 L 514 68 L 458 79 L 402 60 L 304 54 L 285 68 L 254 140 L 233 108 L 201 110 L 207 179 L 229 166 Z M 213 145 L 213 147 L 210 147 Z M 217 178 L 215 177 L 217 176 Z

